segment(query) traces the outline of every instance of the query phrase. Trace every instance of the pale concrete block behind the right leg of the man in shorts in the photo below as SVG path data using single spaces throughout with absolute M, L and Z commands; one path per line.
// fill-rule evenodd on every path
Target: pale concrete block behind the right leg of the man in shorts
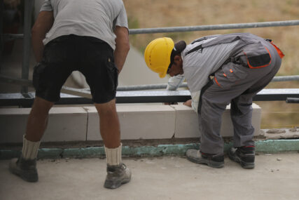
M 95 107 L 88 112 L 87 140 L 102 140 Z M 174 135 L 175 111 L 165 105 L 117 105 L 122 140 L 165 139 Z

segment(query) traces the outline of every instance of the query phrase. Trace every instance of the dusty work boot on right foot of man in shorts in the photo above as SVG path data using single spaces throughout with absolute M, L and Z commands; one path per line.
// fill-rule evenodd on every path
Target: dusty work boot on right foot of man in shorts
M 120 164 L 118 166 L 107 165 L 107 175 L 104 183 L 104 187 L 109 189 L 116 189 L 120 185 L 130 182 L 131 171 L 125 164 Z

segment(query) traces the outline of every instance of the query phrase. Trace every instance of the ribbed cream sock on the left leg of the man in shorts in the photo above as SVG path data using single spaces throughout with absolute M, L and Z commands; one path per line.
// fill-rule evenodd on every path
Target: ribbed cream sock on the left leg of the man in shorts
M 39 151 L 39 145 L 40 144 L 41 144 L 41 141 L 32 142 L 32 141 L 26 140 L 25 135 L 23 135 L 22 157 L 25 160 L 36 159 L 37 153 Z

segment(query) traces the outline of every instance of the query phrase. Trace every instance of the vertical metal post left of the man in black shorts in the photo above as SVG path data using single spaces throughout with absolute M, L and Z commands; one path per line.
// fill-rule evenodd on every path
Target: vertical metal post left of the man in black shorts
M 31 51 L 31 27 L 32 27 L 32 11 L 34 0 L 26 0 L 24 13 L 24 40 L 23 40 L 23 59 L 22 59 L 22 79 L 29 79 L 29 62 Z M 28 88 L 23 86 L 22 94 L 28 93 Z

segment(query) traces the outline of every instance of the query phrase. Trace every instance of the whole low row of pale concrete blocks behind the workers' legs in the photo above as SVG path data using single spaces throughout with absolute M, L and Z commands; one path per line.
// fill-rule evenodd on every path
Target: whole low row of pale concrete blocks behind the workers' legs
M 0 143 L 22 142 L 28 108 L 0 109 Z M 122 140 L 200 137 L 197 114 L 184 105 L 117 105 Z M 261 109 L 253 104 L 255 135 Z M 232 136 L 230 107 L 223 114 L 221 135 Z M 102 140 L 95 107 L 53 107 L 43 142 Z

